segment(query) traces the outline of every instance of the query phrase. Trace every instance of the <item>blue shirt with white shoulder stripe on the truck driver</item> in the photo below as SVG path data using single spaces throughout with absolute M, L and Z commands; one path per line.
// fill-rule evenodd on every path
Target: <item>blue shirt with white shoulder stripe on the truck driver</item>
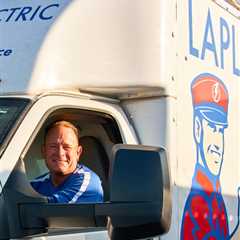
M 31 181 L 32 187 L 48 198 L 50 203 L 102 202 L 103 189 L 96 173 L 84 165 L 76 170 L 62 184 L 55 187 L 50 174 L 45 173 Z

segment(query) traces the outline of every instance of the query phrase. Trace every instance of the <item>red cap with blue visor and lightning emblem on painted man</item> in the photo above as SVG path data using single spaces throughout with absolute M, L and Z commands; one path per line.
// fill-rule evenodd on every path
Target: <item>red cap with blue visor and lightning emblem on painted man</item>
M 191 85 L 193 107 L 215 124 L 227 125 L 228 91 L 214 75 L 201 74 Z

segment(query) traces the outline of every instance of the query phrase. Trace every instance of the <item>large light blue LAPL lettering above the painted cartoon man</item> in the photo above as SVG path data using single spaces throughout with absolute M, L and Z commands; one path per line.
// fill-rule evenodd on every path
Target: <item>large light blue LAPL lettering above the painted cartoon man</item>
M 240 48 L 237 42 L 237 32 L 234 25 L 229 24 L 223 17 L 219 18 L 219 24 L 214 25 L 210 8 L 205 20 L 204 36 L 201 45 L 197 46 L 195 29 L 193 27 L 193 0 L 188 1 L 188 20 L 189 20 L 189 51 L 190 54 L 201 60 L 205 60 L 207 55 L 211 55 L 212 64 L 224 69 L 226 54 L 231 55 L 232 73 L 240 76 Z M 219 28 L 219 35 L 216 35 L 216 28 Z M 216 41 L 218 39 L 218 41 Z M 237 61 L 238 60 L 238 61 Z

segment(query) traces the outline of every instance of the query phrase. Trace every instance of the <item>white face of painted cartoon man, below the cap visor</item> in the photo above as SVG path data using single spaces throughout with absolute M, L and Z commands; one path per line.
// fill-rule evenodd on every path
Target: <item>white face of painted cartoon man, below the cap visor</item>
M 213 175 L 220 173 L 224 152 L 224 126 L 202 120 L 202 151 L 208 169 Z

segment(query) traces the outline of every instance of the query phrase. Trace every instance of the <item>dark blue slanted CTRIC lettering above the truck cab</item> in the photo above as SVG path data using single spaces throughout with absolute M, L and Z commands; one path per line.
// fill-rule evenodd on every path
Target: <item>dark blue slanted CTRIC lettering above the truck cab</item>
M 0 22 L 24 22 L 33 20 L 50 20 L 54 17 L 54 10 L 59 4 L 47 6 L 39 5 L 35 8 L 30 6 L 0 9 Z

